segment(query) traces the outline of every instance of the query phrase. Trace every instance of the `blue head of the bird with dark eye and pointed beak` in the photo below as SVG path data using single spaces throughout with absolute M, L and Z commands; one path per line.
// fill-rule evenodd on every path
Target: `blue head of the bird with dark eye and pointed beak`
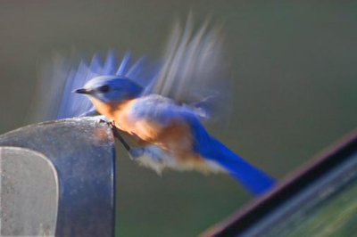
M 87 94 L 101 102 L 123 102 L 137 98 L 143 88 L 129 78 L 100 76 L 90 79 L 75 93 Z

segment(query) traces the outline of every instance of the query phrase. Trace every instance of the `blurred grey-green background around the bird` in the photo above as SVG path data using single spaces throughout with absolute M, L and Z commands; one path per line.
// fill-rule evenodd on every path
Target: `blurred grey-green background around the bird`
M 29 123 L 53 52 L 159 56 L 175 19 L 222 23 L 233 112 L 212 133 L 278 178 L 356 127 L 355 1 L 1 1 L 0 133 Z M 229 176 L 140 168 L 118 146 L 117 236 L 195 236 L 252 198 Z

